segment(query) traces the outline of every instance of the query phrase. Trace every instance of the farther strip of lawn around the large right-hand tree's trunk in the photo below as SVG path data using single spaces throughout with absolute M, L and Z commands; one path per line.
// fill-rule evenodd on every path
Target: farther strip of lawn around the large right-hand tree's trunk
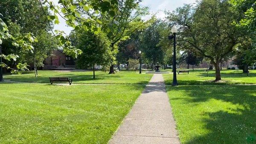
M 171 71 L 170 69 L 166 71 Z M 178 70 L 177 70 L 178 71 Z M 250 70 L 249 76 L 242 73 L 241 70 L 222 70 L 221 79 L 222 82 L 213 83 L 215 80 L 215 70 L 211 70 L 207 74 L 204 72 L 204 69 L 195 69 L 192 72 L 192 69 L 189 69 L 189 74 L 182 73 L 177 74 L 177 81 L 180 85 L 189 85 L 189 84 L 256 84 L 256 70 Z M 166 84 L 172 84 L 172 73 L 163 74 Z

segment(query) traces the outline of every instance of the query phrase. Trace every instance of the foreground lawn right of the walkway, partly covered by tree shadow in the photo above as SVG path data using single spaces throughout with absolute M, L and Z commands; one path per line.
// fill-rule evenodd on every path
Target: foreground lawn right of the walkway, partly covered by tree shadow
M 256 86 L 167 86 L 181 143 L 256 143 Z

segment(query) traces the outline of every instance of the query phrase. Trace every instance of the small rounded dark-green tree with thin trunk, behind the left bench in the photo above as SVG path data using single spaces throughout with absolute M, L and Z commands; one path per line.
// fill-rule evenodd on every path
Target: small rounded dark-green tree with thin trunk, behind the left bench
M 77 58 L 76 65 L 82 69 L 93 67 L 95 78 L 95 65 L 109 66 L 115 58 L 112 55 L 110 41 L 105 34 L 96 35 L 92 32 L 81 30 L 74 31 L 71 35 L 82 54 Z

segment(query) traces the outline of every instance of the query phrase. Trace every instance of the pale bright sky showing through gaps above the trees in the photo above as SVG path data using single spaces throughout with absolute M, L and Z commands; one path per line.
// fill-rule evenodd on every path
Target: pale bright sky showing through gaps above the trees
M 57 0 L 54 0 L 57 1 Z M 183 6 L 185 3 L 195 3 L 196 0 L 143 0 L 141 6 L 148 6 L 151 14 L 156 14 L 158 18 L 164 18 L 164 11 L 173 11 L 177 7 Z M 149 16 L 150 17 L 150 16 Z M 60 24 L 55 25 L 54 29 L 64 31 L 67 35 L 71 32 L 72 28 L 67 27 L 65 20 L 61 17 Z

